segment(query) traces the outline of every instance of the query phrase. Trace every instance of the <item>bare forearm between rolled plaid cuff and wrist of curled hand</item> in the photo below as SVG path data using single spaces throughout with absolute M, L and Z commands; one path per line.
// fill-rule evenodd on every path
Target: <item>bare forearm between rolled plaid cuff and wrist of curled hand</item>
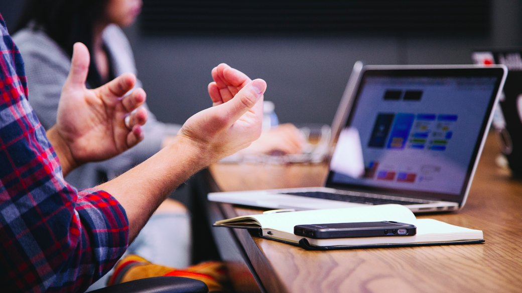
M 97 188 L 124 207 L 132 241 L 174 188 L 211 163 L 209 157 L 192 141 L 178 136 L 147 161 Z

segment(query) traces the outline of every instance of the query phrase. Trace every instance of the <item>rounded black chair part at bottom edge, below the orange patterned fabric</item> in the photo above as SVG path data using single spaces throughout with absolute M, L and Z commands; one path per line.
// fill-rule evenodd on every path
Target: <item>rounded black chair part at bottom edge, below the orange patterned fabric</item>
M 200 280 L 184 277 L 152 277 L 91 291 L 92 293 L 208 293 Z

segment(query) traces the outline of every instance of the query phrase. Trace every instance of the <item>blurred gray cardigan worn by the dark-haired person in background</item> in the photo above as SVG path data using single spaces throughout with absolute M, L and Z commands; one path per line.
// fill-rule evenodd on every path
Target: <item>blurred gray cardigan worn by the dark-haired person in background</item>
M 42 126 L 49 129 L 56 124 L 58 101 L 69 73 L 70 57 L 41 30 L 26 28 L 13 39 L 25 63 L 29 101 Z M 123 31 L 110 25 L 103 32 L 103 41 L 111 55 L 115 76 L 125 72 L 136 75 L 134 56 Z M 139 80 L 136 87 L 141 87 Z M 180 125 L 161 123 L 149 112 L 144 141 L 111 160 L 80 166 L 66 180 L 76 188 L 94 187 L 99 183 L 99 172 L 105 172 L 109 179 L 125 172 L 158 152 L 163 137 L 176 135 L 180 128 Z

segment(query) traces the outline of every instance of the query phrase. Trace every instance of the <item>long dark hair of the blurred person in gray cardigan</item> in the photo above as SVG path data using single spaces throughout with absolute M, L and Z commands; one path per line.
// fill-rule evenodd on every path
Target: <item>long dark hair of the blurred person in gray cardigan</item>
M 26 0 L 14 32 L 34 21 L 35 29 L 43 29 L 69 57 L 73 45 L 84 43 L 94 56 L 92 30 L 94 22 L 104 13 L 109 0 Z M 87 81 L 92 88 L 101 86 L 101 77 L 94 62 L 90 63 Z

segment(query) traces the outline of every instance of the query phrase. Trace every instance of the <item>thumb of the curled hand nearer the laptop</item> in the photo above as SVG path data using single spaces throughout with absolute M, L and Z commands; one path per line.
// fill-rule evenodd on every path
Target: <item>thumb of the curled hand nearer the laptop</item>
M 246 84 L 232 100 L 218 105 L 215 108 L 221 107 L 220 111 L 225 111 L 230 117 L 230 124 L 233 124 L 243 114 L 252 109 L 257 101 L 263 96 L 266 91 L 266 82 L 263 79 L 255 79 Z M 263 111 L 263 109 L 259 109 Z

